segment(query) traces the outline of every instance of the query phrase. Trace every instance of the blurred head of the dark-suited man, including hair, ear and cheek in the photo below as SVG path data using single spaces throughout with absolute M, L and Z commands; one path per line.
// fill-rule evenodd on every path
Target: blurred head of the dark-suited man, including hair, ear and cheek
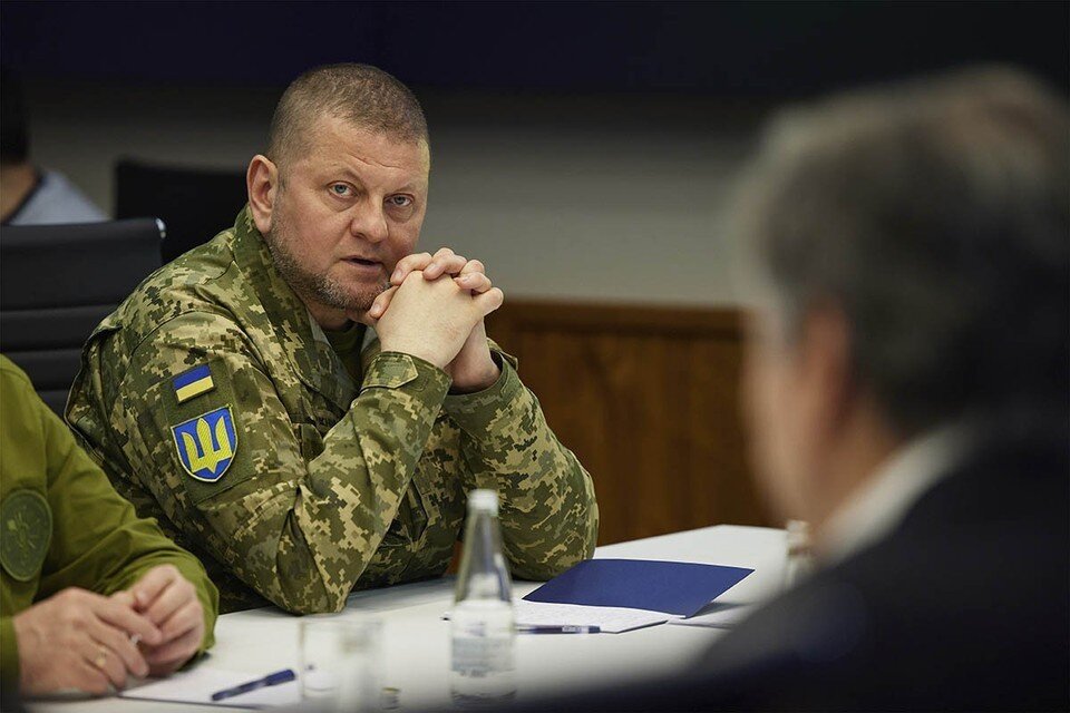
M 819 522 L 852 487 L 829 473 L 947 422 L 1066 423 L 1070 113 L 1041 82 L 988 67 L 789 110 L 737 206 L 761 286 L 745 413 L 781 514 Z

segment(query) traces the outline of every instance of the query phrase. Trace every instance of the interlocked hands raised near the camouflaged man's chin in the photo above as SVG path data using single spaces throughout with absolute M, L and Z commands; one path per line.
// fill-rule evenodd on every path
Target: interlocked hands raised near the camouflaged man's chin
M 484 318 L 504 300 L 483 263 L 444 247 L 398 261 L 390 287 L 368 312 L 350 318 L 376 329 L 382 351 L 419 356 L 446 371 L 455 391 L 471 392 L 500 374 Z

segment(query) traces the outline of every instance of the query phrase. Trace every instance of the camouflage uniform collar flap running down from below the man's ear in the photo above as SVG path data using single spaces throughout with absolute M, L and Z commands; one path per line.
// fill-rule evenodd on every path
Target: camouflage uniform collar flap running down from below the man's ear
M 298 378 L 341 410 L 348 410 L 352 380 L 308 307 L 275 268 L 249 205 L 234 221 L 234 258 L 260 297 L 275 340 Z

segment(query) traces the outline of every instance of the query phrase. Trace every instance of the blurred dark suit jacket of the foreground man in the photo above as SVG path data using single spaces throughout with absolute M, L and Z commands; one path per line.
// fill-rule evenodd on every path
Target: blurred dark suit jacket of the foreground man
M 889 536 L 757 612 L 679 678 L 525 707 L 1067 710 L 1068 482 L 1064 429 L 990 439 Z

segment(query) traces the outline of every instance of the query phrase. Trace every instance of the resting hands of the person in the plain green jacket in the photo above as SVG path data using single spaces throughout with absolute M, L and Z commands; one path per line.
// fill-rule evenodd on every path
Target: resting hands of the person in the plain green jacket
M 95 695 L 133 675 L 160 676 L 189 660 L 204 639 L 204 609 L 174 567 L 149 569 L 110 597 L 70 587 L 17 614 L 19 691 Z

